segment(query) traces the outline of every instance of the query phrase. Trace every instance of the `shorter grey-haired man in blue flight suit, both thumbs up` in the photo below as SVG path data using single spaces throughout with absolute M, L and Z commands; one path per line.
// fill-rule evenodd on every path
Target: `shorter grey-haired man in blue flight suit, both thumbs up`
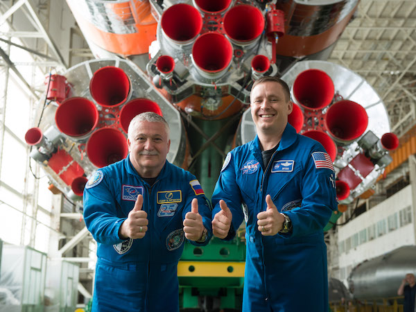
M 208 243 L 211 206 L 196 177 L 166 160 L 162 116 L 135 116 L 127 142 L 128 157 L 98 169 L 84 191 L 85 224 L 98 243 L 92 311 L 179 311 L 184 239 Z

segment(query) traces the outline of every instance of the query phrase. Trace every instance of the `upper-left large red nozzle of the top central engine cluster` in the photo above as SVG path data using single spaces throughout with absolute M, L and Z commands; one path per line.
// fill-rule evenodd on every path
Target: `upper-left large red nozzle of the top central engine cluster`
M 166 36 L 173 42 L 186 44 L 202 30 L 202 17 L 193 6 L 179 3 L 163 12 L 160 24 Z

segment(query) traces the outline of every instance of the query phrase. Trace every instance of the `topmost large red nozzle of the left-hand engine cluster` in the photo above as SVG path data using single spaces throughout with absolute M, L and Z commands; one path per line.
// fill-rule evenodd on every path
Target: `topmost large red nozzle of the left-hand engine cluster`
M 128 98 L 130 79 L 123 69 L 106 66 L 94 73 L 89 82 L 89 91 L 99 105 L 118 106 Z

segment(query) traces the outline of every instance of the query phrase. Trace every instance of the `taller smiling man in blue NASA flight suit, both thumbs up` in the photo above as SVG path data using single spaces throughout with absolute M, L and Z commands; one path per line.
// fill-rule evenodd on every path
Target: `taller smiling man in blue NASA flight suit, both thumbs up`
M 232 239 L 243 218 L 243 311 L 328 311 L 323 227 L 337 209 L 335 175 L 320 143 L 297 135 L 288 85 L 275 77 L 250 94 L 257 137 L 228 153 L 212 196 L 212 230 Z

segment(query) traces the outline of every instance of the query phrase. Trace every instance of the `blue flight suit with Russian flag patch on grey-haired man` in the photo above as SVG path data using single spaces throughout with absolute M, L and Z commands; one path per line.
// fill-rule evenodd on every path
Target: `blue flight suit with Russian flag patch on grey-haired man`
M 143 239 L 123 241 L 119 228 L 139 193 L 148 231 Z M 179 311 L 177 262 L 193 198 L 209 235 L 205 243 L 191 243 L 206 245 L 211 205 L 194 175 L 166 160 L 150 187 L 129 156 L 96 171 L 84 191 L 85 224 L 98 243 L 92 311 Z

